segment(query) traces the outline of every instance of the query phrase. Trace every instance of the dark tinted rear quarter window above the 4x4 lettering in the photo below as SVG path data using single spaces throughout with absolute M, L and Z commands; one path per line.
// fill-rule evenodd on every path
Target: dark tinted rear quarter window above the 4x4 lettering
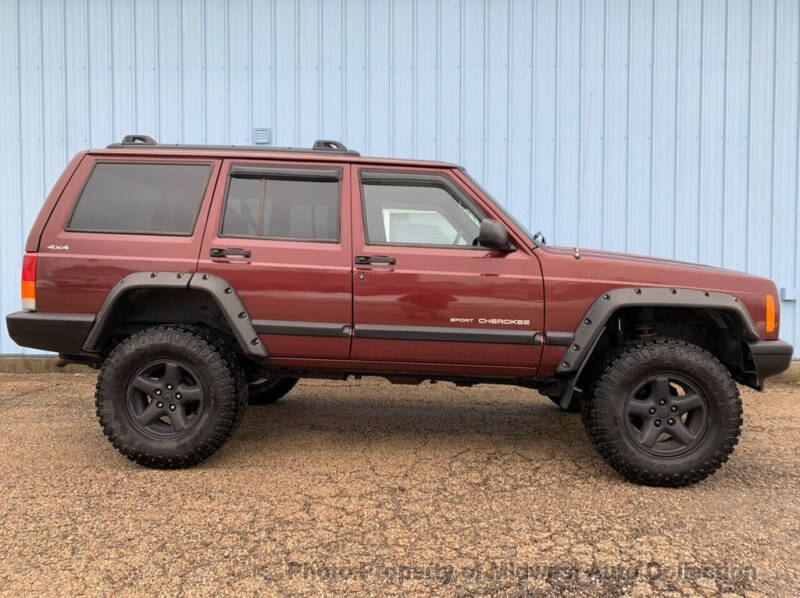
M 209 164 L 98 164 L 68 230 L 190 235 Z

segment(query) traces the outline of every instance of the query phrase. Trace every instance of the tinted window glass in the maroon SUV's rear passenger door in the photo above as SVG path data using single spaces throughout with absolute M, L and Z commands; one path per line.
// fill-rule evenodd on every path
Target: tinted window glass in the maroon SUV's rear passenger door
M 339 182 L 232 176 L 222 234 L 339 240 Z

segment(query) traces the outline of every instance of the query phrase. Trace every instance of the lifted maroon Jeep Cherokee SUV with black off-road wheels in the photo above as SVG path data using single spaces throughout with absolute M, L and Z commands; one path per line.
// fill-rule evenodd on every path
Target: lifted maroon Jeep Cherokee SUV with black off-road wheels
M 100 368 L 97 416 L 152 467 L 213 453 L 301 377 L 491 382 L 582 410 L 620 473 L 680 486 L 785 370 L 775 285 L 545 244 L 454 164 L 131 135 L 67 166 L 28 236 L 20 345 Z

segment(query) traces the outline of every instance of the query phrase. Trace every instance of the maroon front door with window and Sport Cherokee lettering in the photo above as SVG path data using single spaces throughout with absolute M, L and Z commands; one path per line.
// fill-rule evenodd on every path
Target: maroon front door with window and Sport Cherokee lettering
M 473 244 L 481 220 L 501 220 L 491 204 L 447 169 L 353 167 L 351 179 L 351 358 L 535 374 L 541 269 L 518 241 L 510 253 Z

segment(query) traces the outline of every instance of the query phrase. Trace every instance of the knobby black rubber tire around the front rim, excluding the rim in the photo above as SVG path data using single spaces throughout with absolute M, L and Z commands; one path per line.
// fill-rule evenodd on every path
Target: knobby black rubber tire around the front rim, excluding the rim
M 626 411 L 637 385 L 665 376 L 693 386 L 705 414 L 696 444 L 669 457 L 651 454 L 637 442 Z M 678 487 L 703 480 L 728 460 L 741 432 L 742 402 L 730 373 L 708 351 L 683 340 L 653 338 L 626 345 L 610 360 L 584 401 L 583 420 L 595 448 L 623 476 L 640 484 Z

